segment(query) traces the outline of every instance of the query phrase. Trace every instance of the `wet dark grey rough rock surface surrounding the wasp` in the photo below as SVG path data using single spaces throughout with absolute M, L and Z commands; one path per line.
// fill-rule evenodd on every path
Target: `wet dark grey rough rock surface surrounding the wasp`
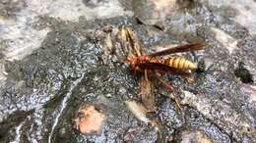
M 1 1 L 0 142 L 166 142 L 191 130 L 213 142 L 256 142 L 256 3 L 154 2 Z M 160 17 L 152 15 L 155 10 Z M 144 53 L 207 43 L 203 51 L 180 54 L 206 67 L 193 82 L 164 76 L 183 112 L 157 85 L 156 112 L 147 118 L 156 119 L 161 132 L 136 119 L 124 103 L 139 101 L 140 93 L 140 77 L 122 63 L 127 53 L 116 37 L 126 25 L 138 34 Z M 74 128 L 82 105 L 94 105 L 107 117 L 99 134 Z

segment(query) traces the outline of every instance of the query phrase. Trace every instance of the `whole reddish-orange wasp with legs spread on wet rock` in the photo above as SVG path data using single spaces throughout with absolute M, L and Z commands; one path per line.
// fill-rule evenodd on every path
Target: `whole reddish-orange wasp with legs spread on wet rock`
M 126 27 L 121 30 L 121 37 L 125 39 L 125 41 L 129 41 L 130 43 L 130 51 L 125 62 L 129 65 L 131 71 L 134 71 L 136 73 L 143 73 L 144 80 L 142 80 L 142 82 L 146 85 L 151 83 L 150 81 L 152 78 L 157 78 L 160 81 L 160 83 L 164 85 L 173 94 L 173 100 L 177 104 L 178 108 L 182 110 L 178 98 L 174 94 L 172 83 L 164 79 L 162 75 L 177 74 L 188 76 L 191 72 L 198 71 L 200 70 L 200 68 L 197 64 L 185 59 L 184 57 L 173 56 L 164 58 L 164 56 L 180 52 L 202 50 L 205 44 L 184 44 L 176 47 L 167 48 L 160 52 L 144 55 L 142 53 L 141 46 L 138 43 L 138 39 L 134 31 L 130 27 Z

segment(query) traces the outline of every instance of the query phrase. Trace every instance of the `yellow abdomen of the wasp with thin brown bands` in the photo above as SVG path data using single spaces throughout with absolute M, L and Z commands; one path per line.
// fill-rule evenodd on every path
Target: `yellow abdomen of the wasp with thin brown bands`
M 198 69 L 197 65 L 186 60 L 184 57 L 172 57 L 164 60 L 164 64 L 171 68 L 175 68 L 183 71 L 195 71 Z

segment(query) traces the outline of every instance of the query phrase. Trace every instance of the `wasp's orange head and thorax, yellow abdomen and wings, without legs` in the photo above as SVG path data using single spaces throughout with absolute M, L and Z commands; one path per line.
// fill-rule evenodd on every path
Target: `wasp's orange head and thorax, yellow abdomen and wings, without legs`
M 127 59 L 132 71 L 167 71 L 176 74 L 187 74 L 189 71 L 198 70 L 198 66 L 183 57 L 170 57 L 161 59 L 159 56 L 169 55 L 178 52 L 187 52 L 201 50 L 204 44 L 194 43 L 177 47 L 168 48 L 166 50 L 156 52 L 149 55 L 142 55 Z

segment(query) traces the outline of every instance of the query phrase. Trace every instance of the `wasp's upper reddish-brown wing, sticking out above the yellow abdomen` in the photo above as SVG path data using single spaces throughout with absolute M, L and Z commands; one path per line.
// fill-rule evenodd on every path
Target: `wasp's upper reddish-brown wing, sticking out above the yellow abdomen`
M 168 48 L 166 50 L 150 54 L 149 56 L 155 57 L 155 56 L 163 56 L 163 55 L 179 53 L 179 52 L 197 51 L 197 50 L 202 50 L 204 46 L 205 46 L 204 43 L 185 44 L 185 45 Z

